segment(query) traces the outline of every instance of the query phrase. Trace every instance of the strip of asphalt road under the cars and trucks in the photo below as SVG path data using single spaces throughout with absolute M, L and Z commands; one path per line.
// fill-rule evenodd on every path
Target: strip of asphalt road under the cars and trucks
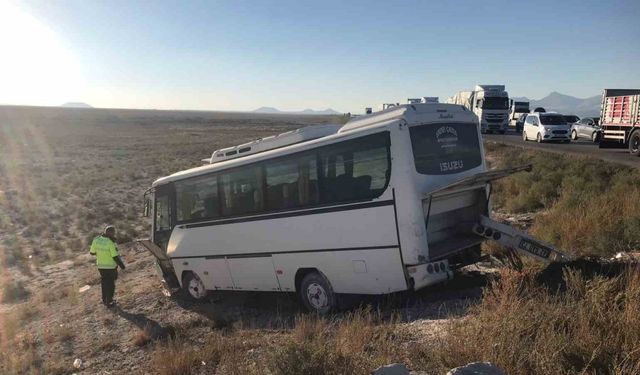
M 598 148 L 596 143 L 587 139 L 578 139 L 577 141 L 571 141 L 571 143 L 525 142 L 522 140 L 522 133 L 516 133 L 513 130 L 507 131 L 506 134 L 483 134 L 482 136 L 485 141 L 488 142 L 504 143 L 510 146 L 525 147 L 565 155 L 588 156 L 640 169 L 640 157 L 629 154 L 628 149 L 601 149 Z

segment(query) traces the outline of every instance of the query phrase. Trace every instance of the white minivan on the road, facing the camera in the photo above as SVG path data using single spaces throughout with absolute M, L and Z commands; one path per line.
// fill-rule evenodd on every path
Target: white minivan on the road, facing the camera
M 527 115 L 522 130 L 522 139 L 535 139 L 538 142 L 571 142 L 571 126 L 564 116 L 555 112 L 531 113 Z

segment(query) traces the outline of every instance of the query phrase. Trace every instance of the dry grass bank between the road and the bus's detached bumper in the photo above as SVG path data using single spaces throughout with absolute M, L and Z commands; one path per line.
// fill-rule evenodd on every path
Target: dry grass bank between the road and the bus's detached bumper
M 596 159 L 487 144 L 496 167 L 533 164 L 495 184 L 507 212 L 543 210 L 531 233 L 580 255 L 640 250 L 640 171 Z

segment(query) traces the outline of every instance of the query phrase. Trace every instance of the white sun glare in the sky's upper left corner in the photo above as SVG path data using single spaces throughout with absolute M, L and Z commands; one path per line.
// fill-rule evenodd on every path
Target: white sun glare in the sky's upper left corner
M 56 33 L 0 0 L 0 104 L 59 105 L 78 99 L 80 66 Z

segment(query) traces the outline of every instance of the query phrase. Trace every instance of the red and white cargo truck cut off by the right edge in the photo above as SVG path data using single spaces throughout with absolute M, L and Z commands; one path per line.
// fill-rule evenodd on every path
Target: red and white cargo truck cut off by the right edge
M 600 148 L 628 148 L 640 156 L 640 90 L 605 89 L 600 127 Z

